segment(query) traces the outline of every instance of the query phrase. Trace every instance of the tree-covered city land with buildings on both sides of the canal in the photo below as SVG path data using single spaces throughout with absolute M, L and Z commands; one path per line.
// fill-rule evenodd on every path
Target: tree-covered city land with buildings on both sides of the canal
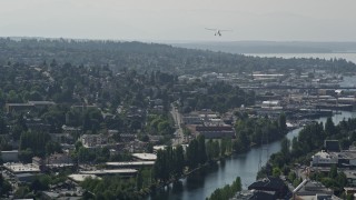
M 201 199 L 355 197 L 345 59 L 0 38 L 0 199 L 170 199 L 257 148 L 254 182 Z

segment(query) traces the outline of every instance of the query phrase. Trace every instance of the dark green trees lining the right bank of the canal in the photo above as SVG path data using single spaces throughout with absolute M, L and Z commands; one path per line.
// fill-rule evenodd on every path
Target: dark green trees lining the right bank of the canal
M 350 147 L 355 147 L 355 118 L 344 119 L 338 124 L 334 124 L 333 119 L 329 117 L 325 124 L 323 122 L 307 124 L 291 141 L 288 139 L 281 141 L 280 151 L 270 156 L 257 177 L 285 176 L 288 182 L 297 187 L 303 179 L 294 171 L 295 166 L 309 166 L 312 156 L 325 150 L 323 146 L 325 140 L 338 140 L 340 150 L 348 150 Z M 337 197 L 349 198 L 343 191 L 344 187 L 349 187 L 346 174 L 335 164 L 330 166 L 328 172 L 310 170 L 306 177 L 323 183 L 326 188 L 332 188 Z

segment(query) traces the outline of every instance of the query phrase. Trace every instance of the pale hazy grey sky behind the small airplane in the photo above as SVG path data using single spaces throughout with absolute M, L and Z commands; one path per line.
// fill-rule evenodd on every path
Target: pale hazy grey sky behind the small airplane
M 0 37 L 356 41 L 356 0 L 0 0 Z M 231 29 L 222 37 L 205 28 Z

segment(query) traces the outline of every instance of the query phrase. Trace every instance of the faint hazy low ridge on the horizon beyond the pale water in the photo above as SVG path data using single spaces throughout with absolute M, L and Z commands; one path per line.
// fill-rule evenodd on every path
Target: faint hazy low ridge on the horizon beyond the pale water
M 222 41 L 177 42 L 174 47 L 221 51 L 229 53 L 335 53 L 356 52 L 356 42 L 307 41 Z

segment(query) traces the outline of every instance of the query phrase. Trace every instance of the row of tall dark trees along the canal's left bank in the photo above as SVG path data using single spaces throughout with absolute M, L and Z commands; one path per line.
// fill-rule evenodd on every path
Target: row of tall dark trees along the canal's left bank
M 181 158 L 181 146 L 178 146 L 176 149 L 172 149 L 172 147 L 168 147 L 165 150 L 159 150 L 157 152 L 157 161 L 154 167 L 154 169 L 156 169 L 156 172 L 154 172 L 154 174 L 156 174 L 156 182 L 144 190 L 146 191 L 145 194 L 155 196 L 161 189 L 170 190 L 170 186 L 172 183 L 177 183 L 181 179 L 188 178 L 195 172 L 206 172 L 206 169 L 211 169 L 215 166 L 218 166 L 218 162 L 224 164 L 225 159 L 231 157 L 233 154 L 246 153 L 250 149 L 264 144 L 264 141 L 254 141 L 254 139 L 247 136 L 254 137 L 256 132 L 263 133 L 264 129 L 266 134 L 270 134 L 269 141 L 276 141 L 283 139 L 288 132 L 287 127 L 283 126 L 286 124 L 286 118 L 284 113 L 280 114 L 278 120 L 266 118 L 253 119 L 248 118 L 244 113 L 236 114 L 240 118 L 235 126 L 235 129 L 237 129 L 237 132 L 239 132 L 237 138 L 234 140 L 221 139 L 206 141 L 204 136 L 199 134 L 197 139 L 190 141 L 187 148 L 187 166 L 185 166 L 184 169 L 181 169 L 181 164 L 177 163 L 177 158 L 179 158 L 179 154 Z M 255 123 L 254 130 L 250 129 L 251 123 Z M 273 132 L 275 132 L 275 134 L 273 134 Z M 202 149 L 205 149 L 205 151 Z M 177 151 L 179 151 L 178 154 Z M 170 172 L 167 172 L 167 169 L 170 169 Z M 218 192 L 227 190 L 226 187 Z

